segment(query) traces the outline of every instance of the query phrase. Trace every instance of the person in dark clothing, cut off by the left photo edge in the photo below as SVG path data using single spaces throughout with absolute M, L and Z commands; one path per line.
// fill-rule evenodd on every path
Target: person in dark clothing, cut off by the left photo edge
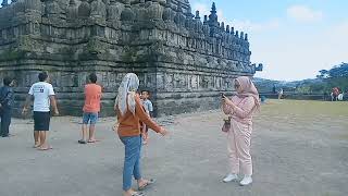
M 3 78 L 3 86 L 0 88 L 0 118 L 1 127 L 0 136 L 9 137 L 9 127 L 11 124 L 11 111 L 13 106 L 13 89 L 14 81 L 10 77 Z

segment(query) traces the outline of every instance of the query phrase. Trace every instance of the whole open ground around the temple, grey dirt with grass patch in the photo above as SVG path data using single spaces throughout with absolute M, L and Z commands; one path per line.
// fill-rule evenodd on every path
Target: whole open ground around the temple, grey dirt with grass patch
M 142 171 L 157 179 L 148 196 L 346 196 L 348 102 L 268 100 L 254 117 L 253 184 L 222 183 L 227 172 L 220 110 L 157 119 Z M 100 119 L 97 144 L 79 145 L 80 119 L 53 118 L 50 144 L 33 146 L 33 122 L 14 119 L 0 138 L 0 196 L 121 196 L 124 148 Z M 134 184 L 135 185 L 135 184 Z

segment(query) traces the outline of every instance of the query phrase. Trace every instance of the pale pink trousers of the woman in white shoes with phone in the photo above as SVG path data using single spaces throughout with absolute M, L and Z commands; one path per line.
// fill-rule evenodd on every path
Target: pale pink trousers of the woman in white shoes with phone
M 227 150 L 231 173 L 252 175 L 250 156 L 251 125 L 231 120 L 231 130 L 227 132 Z M 240 163 L 240 164 L 239 164 Z

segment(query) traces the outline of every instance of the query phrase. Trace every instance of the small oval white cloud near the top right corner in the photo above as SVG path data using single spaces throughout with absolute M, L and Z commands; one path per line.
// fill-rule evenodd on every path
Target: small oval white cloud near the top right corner
M 287 16 L 297 22 L 311 23 L 321 21 L 324 16 L 323 12 L 314 11 L 304 5 L 291 5 L 287 9 Z

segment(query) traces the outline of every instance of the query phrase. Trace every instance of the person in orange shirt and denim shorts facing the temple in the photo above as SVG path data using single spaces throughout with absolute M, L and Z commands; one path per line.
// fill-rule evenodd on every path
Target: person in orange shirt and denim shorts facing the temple
M 97 85 L 97 75 L 89 74 L 89 84 L 85 86 L 85 106 L 83 114 L 82 139 L 79 144 L 97 142 L 95 136 L 98 113 L 100 112 L 101 86 Z M 89 123 L 89 135 L 87 140 L 87 125 Z

